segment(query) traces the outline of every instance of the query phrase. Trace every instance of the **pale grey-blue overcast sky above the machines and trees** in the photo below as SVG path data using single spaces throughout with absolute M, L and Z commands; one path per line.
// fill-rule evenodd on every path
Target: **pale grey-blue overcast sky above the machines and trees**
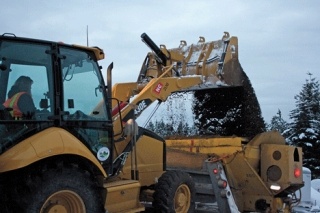
M 0 33 L 86 45 L 89 26 L 89 45 L 104 49 L 104 69 L 114 62 L 115 83 L 136 81 L 149 51 L 143 32 L 173 48 L 228 31 L 269 123 L 278 109 L 288 120 L 308 72 L 320 80 L 319 11 L 319 0 L 1 0 Z

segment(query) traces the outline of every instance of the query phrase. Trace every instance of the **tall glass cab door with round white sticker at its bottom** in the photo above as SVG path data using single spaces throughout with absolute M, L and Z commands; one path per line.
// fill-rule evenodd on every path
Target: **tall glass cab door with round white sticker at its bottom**
M 60 48 L 64 127 L 81 140 L 112 172 L 112 121 L 104 80 L 94 55 Z

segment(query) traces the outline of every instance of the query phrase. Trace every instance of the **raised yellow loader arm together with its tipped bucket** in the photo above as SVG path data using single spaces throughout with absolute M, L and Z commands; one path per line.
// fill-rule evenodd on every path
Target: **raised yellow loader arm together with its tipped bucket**
M 138 117 L 155 100 L 165 101 L 181 90 L 242 85 L 238 61 L 238 40 L 225 32 L 221 40 L 187 45 L 181 41 L 178 48 L 158 47 L 143 33 L 142 41 L 152 50 L 148 53 L 137 82 L 118 83 L 112 88 L 112 97 L 121 102 L 113 111 L 115 133 L 121 131 L 116 122 L 121 111 L 123 120 Z M 131 99 L 131 100 L 130 100 Z M 113 102 L 113 107 L 116 107 Z

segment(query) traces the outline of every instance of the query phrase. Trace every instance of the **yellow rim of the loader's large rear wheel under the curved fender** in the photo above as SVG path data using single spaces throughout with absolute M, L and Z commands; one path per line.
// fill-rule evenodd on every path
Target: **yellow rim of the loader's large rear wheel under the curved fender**
M 41 207 L 41 213 L 85 213 L 82 198 L 70 190 L 62 190 L 52 194 Z

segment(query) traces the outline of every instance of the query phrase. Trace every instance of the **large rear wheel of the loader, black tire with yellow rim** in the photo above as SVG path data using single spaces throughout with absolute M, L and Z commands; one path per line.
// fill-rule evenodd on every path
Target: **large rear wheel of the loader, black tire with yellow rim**
M 104 212 L 101 193 L 89 172 L 72 165 L 34 172 L 23 181 L 23 212 Z

